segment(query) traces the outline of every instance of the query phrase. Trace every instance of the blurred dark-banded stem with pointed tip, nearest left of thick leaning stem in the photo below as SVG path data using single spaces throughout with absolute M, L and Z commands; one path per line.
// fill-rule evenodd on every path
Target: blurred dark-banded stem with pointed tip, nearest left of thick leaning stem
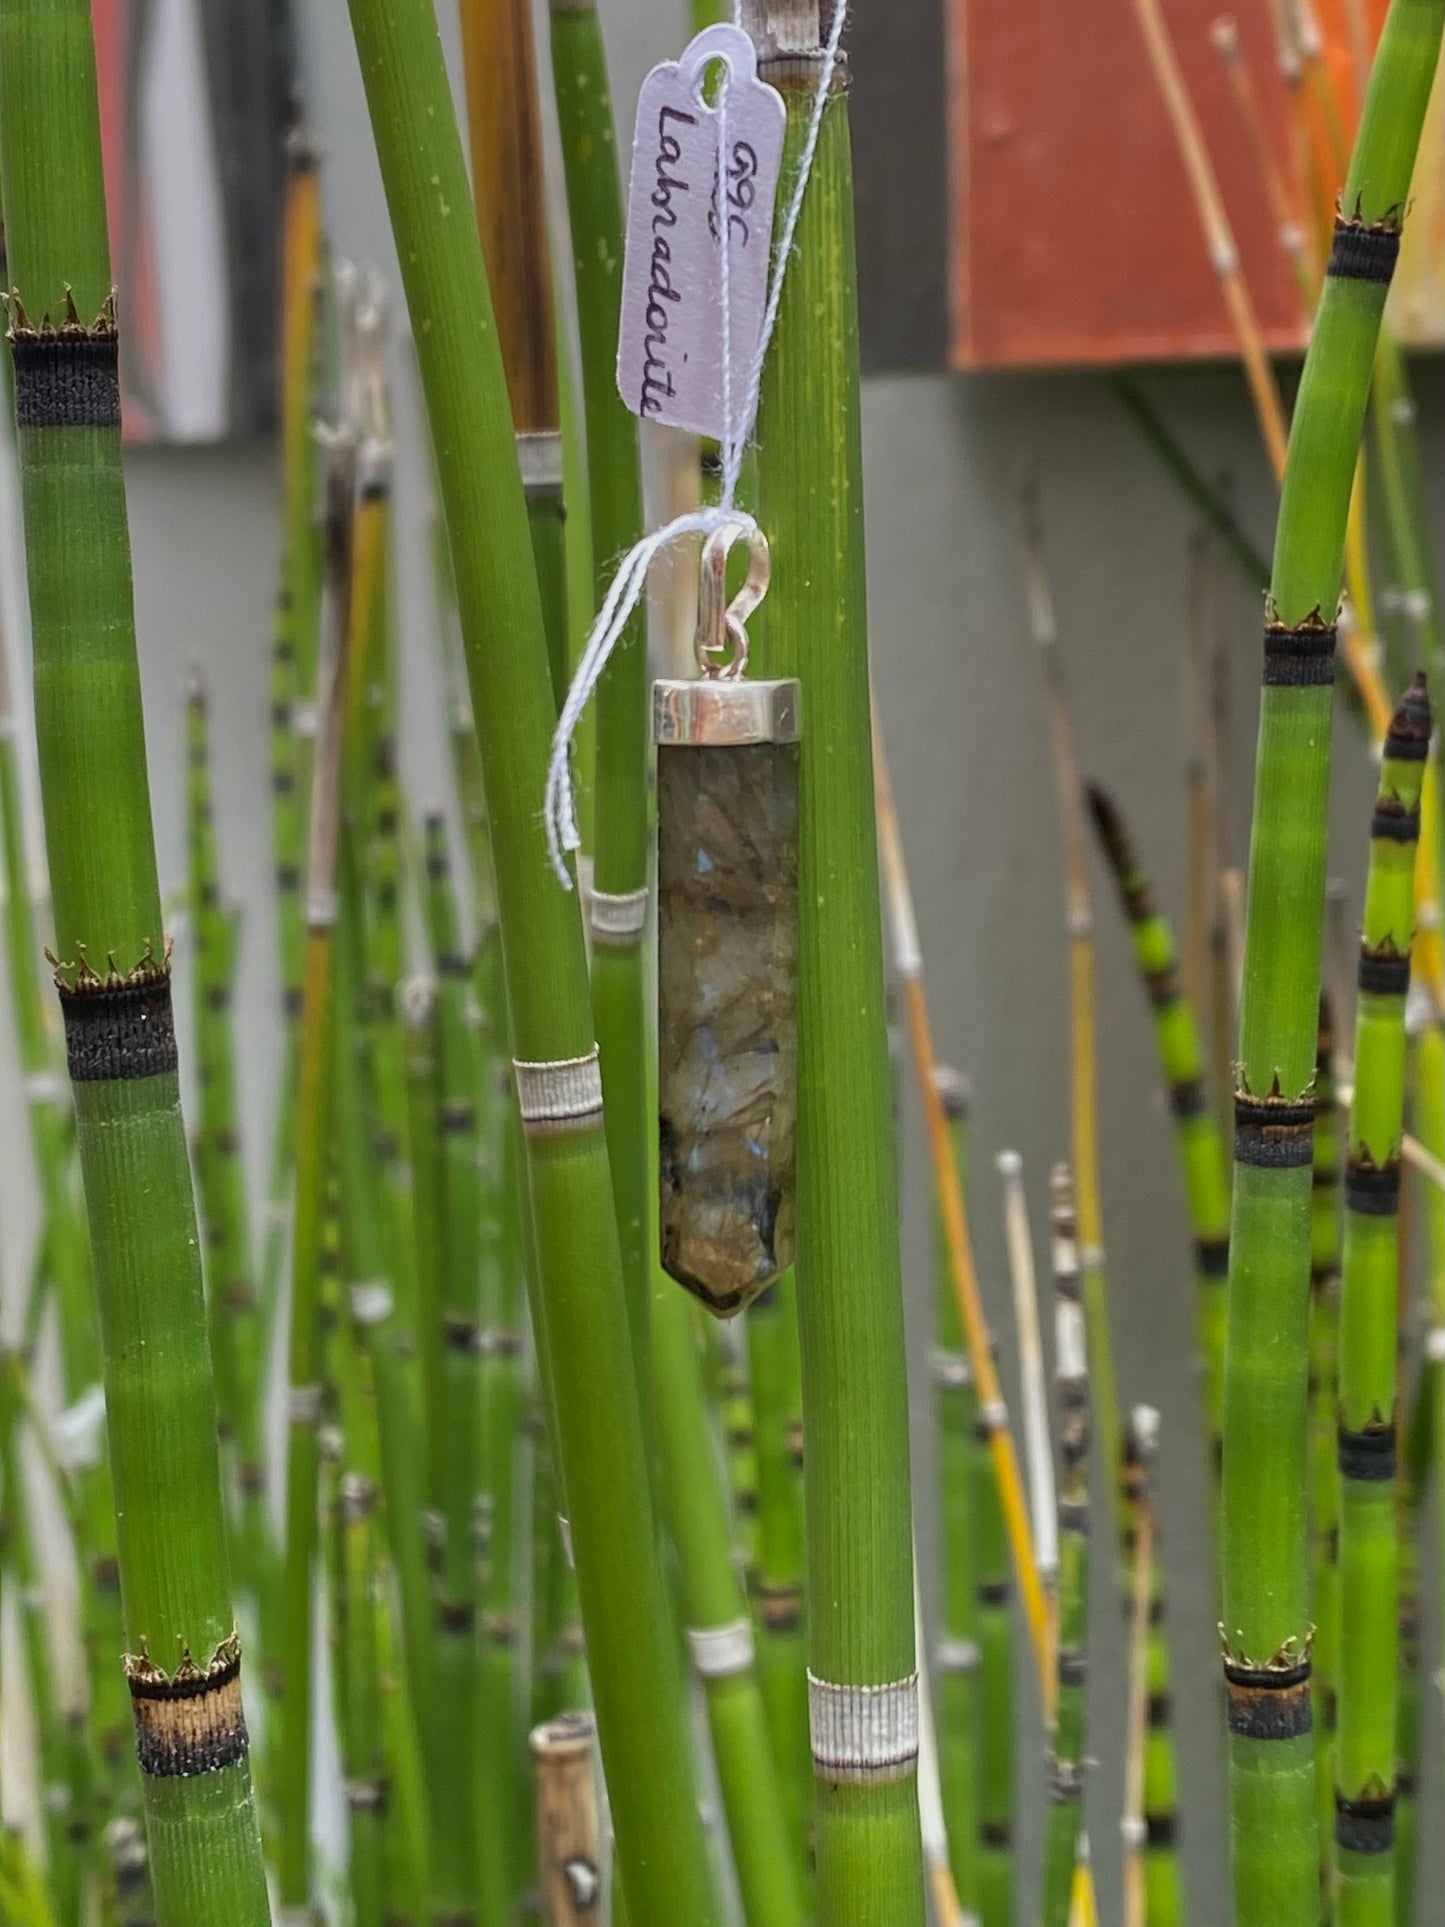
M 435 1696 L 432 1707 L 432 1879 L 437 1914 L 476 1917 L 476 1559 L 474 1515 L 482 1449 L 482 1170 L 478 1164 L 482 1052 L 472 1027 L 472 960 L 460 946 L 447 827 L 430 815 L 426 910 L 437 969 L 441 1098 L 441 1411 L 435 1557 Z

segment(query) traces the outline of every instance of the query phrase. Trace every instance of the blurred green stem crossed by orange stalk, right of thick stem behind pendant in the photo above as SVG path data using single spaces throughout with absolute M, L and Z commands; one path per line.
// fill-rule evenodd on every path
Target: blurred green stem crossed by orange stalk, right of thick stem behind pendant
M 967 1164 L 969 1096 L 965 1079 L 938 1069 L 938 1093 L 959 1174 Z M 979 1609 L 975 1565 L 979 1520 L 971 1493 L 977 1393 L 963 1349 L 942 1216 L 934 1226 L 934 1428 L 938 1451 L 938 1777 L 944 1796 L 948 1867 L 965 1914 L 979 1910 Z

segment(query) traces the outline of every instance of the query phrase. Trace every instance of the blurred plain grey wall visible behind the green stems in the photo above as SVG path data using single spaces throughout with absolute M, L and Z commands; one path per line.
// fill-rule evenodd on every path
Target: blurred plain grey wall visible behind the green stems
M 304 12 L 312 118 L 326 146 L 328 224 L 339 254 L 376 260 L 395 287 L 385 210 L 345 8 Z M 678 0 L 607 0 L 618 119 L 645 67 L 682 44 Z M 447 19 L 451 33 L 451 19 Z M 877 39 L 877 37 L 875 37 Z M 545 48 L 545 23 L 543 23 Z M 622 137 L 626 152 L 626 135 Z M 1181 245 L 1193 245 L 1185 237 Z M 401 303 L 397 303 L 401 306 Z M 1445 530 L 1445 380 L 1416 370 L 1433 488 Z M 1152 378 L 1177 434 L 1206 472 L 1233 476 L 1239 516 L 1268 549 L 1272 488 L 1243 385 L 1233 370 Z M 405 647 L 405 775 L 420 805 L 445 767 L 430 667 L 428 516 L 416 399 L 397 353 L 399 530 Z M 865 391 L 867 543 L 873 661 L 894 786 L 913 871 L 940 1054 L 973 1081 L 973 1227 L 986 1297 L 1006 1332 L 1002 1226 L 994 1156 L 1025 1160 L 1040 1264 L 1044 1187 L 1067 1152 L 1065 977 L 1054 788 L 1038 665 L 1019 588 L 1017 489 L 1042 484 L 1062 651 L 1085 771 L 1106 777 L 1127 807 L 1166 908 L 1181 904 L 1183 701 L 1179 686 L 1185 559 L 1191 520 L 1104 387 L 1089 376 L 888 376 Z M 133 451 L 127 459 L 141 665 L 162 881 L 183 886 L 181 690 L 200 661 L 216 732 L 218 834 L 231 892 L 243 902 L 239 994 L 245 1137 L 262 1197 L 276 1064 L 266 667 L 276 578 L 277 464 L 266 445 Z M 13 524 L 13 491 L 4 511 Z M 1235 655 L 1233 819 L 1248 825 L 1260 611 L 1229 582 Z M 6 590 L 15 632 L 13 584 Z M 1370 761 L 1341 719 L 1331 865 L 1358 890 L 1366 850 Z M 541 786 L 541 773 L 538 773 Z M 1146 1008 L 1125 940 L 1096 873 L 1100 946 L 1102 1179 L 1123 1399 L 1164 1412 L 1162 1490 L 1169 1626 L 1183 1754 L 1185 1856 L 1193 1919 L 1223 1919 L 1223 1831 L 1216 1738 L 1216 1632 L 1187 1237 L 1168 1112 L 1160 1102 Z M 183 950 L 183 944 L 181 944 Z M 842 1073 L 842 1071 L 840 1071 Z M 931 1332 L 929 1179 L 911 1096 L 906 1108 L 906 1268 L 915 1386 L 915 1486 L 925 1586 L 931 1586 L 931 1422 L 925 1351 Z M 15 1285 L 33 1235 L 25 1120 L 10 1025 L 0 1025 L 0 1256 Z M 1012 1345 L 1004 1337 L 1012 1380 Z M 1102 1540 L 1100 1540 L 1102 1551 Z M 1108 1559 L 1096 1563 L 1092 1688 L 1098 1767 L 1090 1790 L 1104 1917 L 1117 1917 L 1121 1615 Z M 1432 1607 L 1424 1653 L 1439 1653 Z M 1027 1665 L 1019 1703 L 1033 1703 Z M 1432 1705 L 1428 1798 L 1441 1796 L 1439 1725 Z M 1035 1819 L 1042 1738 L 1019 1746 Z M 1025 1829 L 1031 1833 L 1033 1829 Z M 1430 1829 L 1422 1892 L 1439 1892 L 1439 1829 Z M 1424 1917 L 1424 1914 L 1422 1914 Z M 682 1927 L 682 1923 L 680 1923 Z

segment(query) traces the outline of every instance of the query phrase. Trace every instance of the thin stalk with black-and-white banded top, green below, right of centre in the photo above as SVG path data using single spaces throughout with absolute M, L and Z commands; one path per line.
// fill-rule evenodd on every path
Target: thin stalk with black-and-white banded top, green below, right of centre
M 1089 1349 L 1079 1235 L 1067 1166 L 1050 1181 L 1054 1226 L 1054 1393 L 1058 1399 L 1058 1700 L 1054 1715 L 1042 1927 L 1067 1927 L 1083 1817 L 1089 1682 Z

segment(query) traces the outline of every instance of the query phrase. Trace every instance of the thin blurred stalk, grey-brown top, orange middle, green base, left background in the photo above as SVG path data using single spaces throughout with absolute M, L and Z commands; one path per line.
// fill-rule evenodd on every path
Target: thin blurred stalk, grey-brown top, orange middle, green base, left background
M 287 1345 L 285 1596 L 277 1740 L 277 1888 L 310 1906 L 312 1592 L 322 1399 L 322 1247 L 335 1048 L 337 840 L 351 640 L 356 443 L 335 430 L 326 476 L 326 647 L 306 840 L 306 956 L 297 1071 L 297 1199 Z

